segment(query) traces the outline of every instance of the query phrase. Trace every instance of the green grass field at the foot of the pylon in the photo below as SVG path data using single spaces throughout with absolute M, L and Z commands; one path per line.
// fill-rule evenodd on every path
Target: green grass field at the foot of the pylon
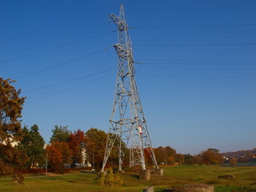
M 193 183 L 213 185 L 215 192 L 256 191 L 256 166 L 169 166 L 163 167 L 163 170 L 163 176 L 151 174 L 149 182 L 139 180 L 138 173 L 135 172 L 121 174 L 124 179 L 122 187 L 98 186 L 96 174 L 78 173 L 26 178 L 24 185 L 11 180 L 0 180 L 0 191 L 142 191 L 146 186 L 154 186 L 154 191 L 164 191 L 166 187 Z M 235 178 L 218 178 L 224 174 L 234 174 Z

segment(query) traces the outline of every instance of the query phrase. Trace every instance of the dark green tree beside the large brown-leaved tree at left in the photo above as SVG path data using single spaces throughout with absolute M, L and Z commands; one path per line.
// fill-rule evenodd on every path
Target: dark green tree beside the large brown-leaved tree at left
M 18 143 L 18 149 L 22 150 L 29 158 L 27 168 L 38 168 L 45 164 L 45 142 L 39 133 L 37 125 L 31 126 L 30 130 L 26 126 L 22 129 L 24 137 Z

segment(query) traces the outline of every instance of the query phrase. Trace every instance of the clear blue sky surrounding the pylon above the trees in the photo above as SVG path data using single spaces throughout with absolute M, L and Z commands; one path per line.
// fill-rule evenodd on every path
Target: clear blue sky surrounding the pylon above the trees
M 26 96 L 22 124 L 108 131 L 116 0 L 1 0 L 0 76 Z M 256 1 L 122 1 L 154 146 L 256 147 Z

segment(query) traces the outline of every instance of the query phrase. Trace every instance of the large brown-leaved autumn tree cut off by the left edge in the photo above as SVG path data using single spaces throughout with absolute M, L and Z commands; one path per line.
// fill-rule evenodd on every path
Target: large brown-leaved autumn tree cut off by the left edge
M 27 157 L 14 147 L 15 142 L 22 140 L 22 106 L 24 97 L 21 90 L 11 86 L 10 79 L 0 78 L 0 174 L 10 174 L 22 182 L 21 169 L 26 165 Z

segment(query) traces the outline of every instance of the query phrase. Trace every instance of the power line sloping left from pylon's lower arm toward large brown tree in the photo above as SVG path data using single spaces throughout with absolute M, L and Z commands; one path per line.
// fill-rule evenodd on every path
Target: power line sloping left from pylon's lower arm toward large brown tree
M 83 55 L 83 56 L 81 56 L 81 57 L 71 59 L 71 60 L 69 60 L 69 61 L 67 61 L 67 62 L 61 62 L 61 63 L 59 63 L 59 64 L 57 64 L 57 65 L 54 65 L 54 66 L 48 66 L 48 67 L 43 68 L 43 69 L 41 69 L 41 70 L 35 70 L 35 71 L 30 72 L 30 73 L 27 73 L 27 74 L 22 74 L 22 75 L 20 75 L 20 76 L 18 76 L 18 77 L 15 77 L 15 78 L 13 78 L 13 79 L 23 78 L 23 77 L 26 77 L 26 76 L 28 76 L 28 75 L 37 74 L 37 73 L 40 73 L 40 72 L 45 71 L 45 70 L 51 70 L 51 69 L 56 68 L 56 67 L 58 67 L 58 66 L 62 66 L 62 65 L 64 65 L 64 64 L 66 64 L 66 63 L 75 62 L 75 61 L 78 61 L 78 60 L 80 60 L 80 59 L 82 59 L 82 58 L 86 58 L 86 57 L 89 57 L 89 56 L 91 56 L 91 55 L 98 54 L 98 53 L 100 53 L 100 52 L 102 52 L 102 51 L 104 51 L 104 50 L 108 50 L 108 49 L 110 49 L 110 48 L 112 48 L 112 46 L 109 46 L 109 47 L 107 47 L 107 48 L 105 48 L 105 49 L 102 49 L 102 50 L 95 51 L 95 52 L 90 53 L 90 54 L 85 54 L 85 55 Z

